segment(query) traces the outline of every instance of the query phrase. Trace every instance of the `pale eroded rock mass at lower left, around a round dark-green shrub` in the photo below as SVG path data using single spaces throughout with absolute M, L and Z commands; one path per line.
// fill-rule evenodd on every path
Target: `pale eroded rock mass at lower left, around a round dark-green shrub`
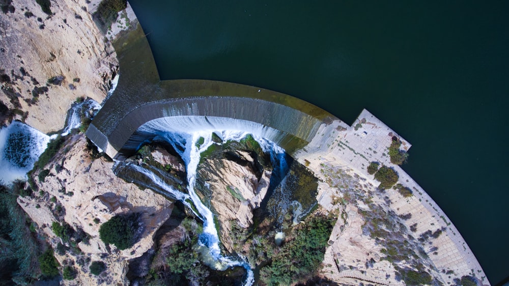
M 53 248 L 61 242 L 51 230 L 53 221 L 65 221 L 90 237 L 88 243 L 78 244 L 81 255 L 55 254 L 61 265 L 70 260 L 78 271 L 77 278 L 69 283 L 127 285 L 128 261 L 152 247 L 153 236 L 168 219 L 173 204 L 151 190 L 139 189 L 117 178 L 111 170 L 113 162 L 104 158 L 93 160 L 83 135 L 74 135 L 67 144 L 46 166 L 49 175 L 44 182 L 38 180 L 36 172 L 34 178 L 41 192 L 32 197 L 20 197 L 18 203 L 49 237 Z M 62 211 L 57 210 L 59 205 Z M 132 212 L 142 214 L 141 238 L 126 250 L 104 245 L 99 239 L 100 225 L 116 214 Z M 84 266 L 78 263 L 83 255 L 90 261 L 103 261 L 107 270 L 100 276 L 91 275 L 89 263 Z

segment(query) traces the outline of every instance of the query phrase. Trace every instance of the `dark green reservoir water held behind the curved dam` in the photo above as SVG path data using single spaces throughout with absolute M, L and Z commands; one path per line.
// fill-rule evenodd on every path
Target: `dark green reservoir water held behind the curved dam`
M 161 79 L 251 84 L 413 144 L 404 169 L 509 276 L 509 2 L 132 0 Z

